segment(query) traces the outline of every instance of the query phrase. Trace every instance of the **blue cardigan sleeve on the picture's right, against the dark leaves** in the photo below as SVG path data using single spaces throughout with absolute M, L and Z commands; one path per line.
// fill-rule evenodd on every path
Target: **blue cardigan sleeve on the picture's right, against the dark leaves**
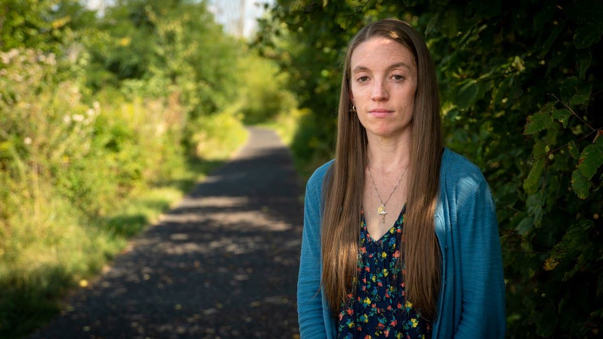
M 461 321 L 455 338 L 505 337 L 505 284 L 494 201 L 485 180 L 460 206 Z

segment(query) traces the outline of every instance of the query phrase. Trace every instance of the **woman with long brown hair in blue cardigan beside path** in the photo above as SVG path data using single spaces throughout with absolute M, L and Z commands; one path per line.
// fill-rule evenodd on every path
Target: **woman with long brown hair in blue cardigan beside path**
M 408 24 L 349 43 L 335 160 L 308 180 L 301 338 L 497 338 L 505 287 L 479 169 L 443 148 L 434 65 Z

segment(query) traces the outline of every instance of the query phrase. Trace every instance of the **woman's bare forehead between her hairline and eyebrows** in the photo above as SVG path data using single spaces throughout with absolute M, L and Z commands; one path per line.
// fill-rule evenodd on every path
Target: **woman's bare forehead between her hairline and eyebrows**
M 405 63 L 415 68 L 415 60 L 411 50 L 396 40 L 387 37 L 373 37 L 360 43 L 352 51 L 350 68 L 387 68 L 396 63 Z

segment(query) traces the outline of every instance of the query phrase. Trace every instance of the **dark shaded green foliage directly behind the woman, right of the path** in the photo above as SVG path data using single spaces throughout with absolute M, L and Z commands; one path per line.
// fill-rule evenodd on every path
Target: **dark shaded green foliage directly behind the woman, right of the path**
M 493 189 L 508 336 L 603 330 L 602 2 L 280 0 L 271 13 L 256 43 L 311 112 L 292 143 L 311 166 L 332 156 L 346 42 L 384 17 L 425 34 L 446 144 Z

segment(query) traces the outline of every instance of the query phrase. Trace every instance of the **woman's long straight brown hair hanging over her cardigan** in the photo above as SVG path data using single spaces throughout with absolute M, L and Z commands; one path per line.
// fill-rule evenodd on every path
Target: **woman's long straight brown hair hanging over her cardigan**
M 350 100 L 350 60 L 362 42 L 387 37 L 410 49 L 417 65 L 417 91 L 409 143 L 406 218 L 403 227 L 406 298 L 433 319 L 440 293 L 440 249 L 434 229 L 440 183 L 442 137 L 435 67 L 425 41 L 397 19 L 373 22 L 350 41 L 339 97 L 335 162 L 324 184 L 322 284 L 332 311 L 347 302 L 356 284 L 360 209 L 367 165 L 367 135 Z

